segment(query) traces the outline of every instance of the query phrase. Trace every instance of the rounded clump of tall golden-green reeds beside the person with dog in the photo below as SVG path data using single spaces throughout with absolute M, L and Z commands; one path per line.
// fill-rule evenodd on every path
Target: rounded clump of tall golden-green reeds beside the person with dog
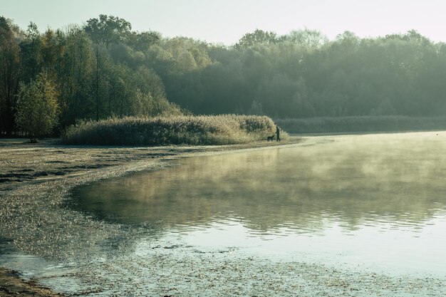
M 73 125 L 62 140 L 78 145 L 229 145 L 266 140 L 275 131 L 271 118 L 258 115 L 128 117 Z

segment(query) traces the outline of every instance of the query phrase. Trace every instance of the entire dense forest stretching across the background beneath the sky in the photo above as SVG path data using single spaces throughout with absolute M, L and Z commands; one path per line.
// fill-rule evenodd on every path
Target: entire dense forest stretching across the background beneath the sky
M 257 29 L 224 46 L 132 31 L 115 16 L 43 32 L 0 17 L 1 135 L 32 113 L 54 115 L 56 134 L 127 115 L 440 116 L 445 78 L 446 44 L 416 31 L 329 41 L 309 29 Z M 51 100 L 34 106 L 33 96 Z

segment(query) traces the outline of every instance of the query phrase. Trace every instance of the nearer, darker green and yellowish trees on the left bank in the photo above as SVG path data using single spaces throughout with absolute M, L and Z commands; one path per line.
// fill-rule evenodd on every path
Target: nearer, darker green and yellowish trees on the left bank
M 181 114 L 142 53 L 160 42 L 158 33 L 131 31 L 115 16 L 43 33 L 33 23 L 22 31 L 0 17 L 1 134 L 19 127 L 32 134 L 29 129 L 39 126 L 58 133 L 77 120 Z

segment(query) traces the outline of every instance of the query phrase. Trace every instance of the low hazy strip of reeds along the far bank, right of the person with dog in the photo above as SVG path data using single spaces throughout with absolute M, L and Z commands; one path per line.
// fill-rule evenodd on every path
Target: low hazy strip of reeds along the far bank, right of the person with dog
M 292 133 L 382 132 L 444 130 L 445 117 L 408 117 L 402 115 L 351 116 L 338 118 L 276 119 L 278 125 Z

